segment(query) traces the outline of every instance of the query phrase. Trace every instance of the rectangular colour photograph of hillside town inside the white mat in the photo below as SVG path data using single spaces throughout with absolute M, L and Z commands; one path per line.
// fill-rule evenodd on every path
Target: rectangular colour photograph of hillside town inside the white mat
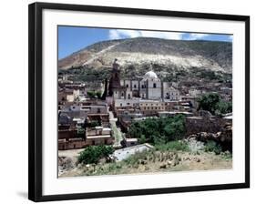
M 232 34 L 56 33 L 59 179 L 233 168 Z

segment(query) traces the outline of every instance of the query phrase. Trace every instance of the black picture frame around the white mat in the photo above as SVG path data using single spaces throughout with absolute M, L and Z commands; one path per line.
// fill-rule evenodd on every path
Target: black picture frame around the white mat
M 162 189 L 132 189 L 104 192 L 90 192 L 63 195 L 42 194 L 42 11 L 57 9 L 68 11 L 91 11 L 101 13 L 128 14 L 128 15 L 155 15 L 176 16 L 198 19 L 231 20 L 245 23 L 245 182 L 192 186 Z M 246 15 L 219 15 L 167 10 L 148 10 L 124 7 L 108 7 L 93 5 L 67 5 L 34 3 L 29 5 L 29 44 L 28 44 L 28 199 L 34 201 L 93 199 L 106 197 L 122 197 L 147 194 L 177 193 L 188 191 L 217 190 L 217 189 L 244 189 L 250 188 L 250 16 Z

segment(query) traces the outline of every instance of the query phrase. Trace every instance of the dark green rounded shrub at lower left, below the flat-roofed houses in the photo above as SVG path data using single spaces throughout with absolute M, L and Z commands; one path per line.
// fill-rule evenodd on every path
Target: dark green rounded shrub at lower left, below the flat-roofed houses
M 89 146 L 80 152 L 78 156 L 79 163 L 97 164 L 100 158 L 108 158 L 114 152 L 111 146 Z

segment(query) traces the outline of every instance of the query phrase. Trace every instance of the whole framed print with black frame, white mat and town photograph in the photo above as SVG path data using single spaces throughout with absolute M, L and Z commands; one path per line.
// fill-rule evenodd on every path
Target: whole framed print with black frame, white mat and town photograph
M 250 17 L 29 5 L 29 199 L 250 187 Z

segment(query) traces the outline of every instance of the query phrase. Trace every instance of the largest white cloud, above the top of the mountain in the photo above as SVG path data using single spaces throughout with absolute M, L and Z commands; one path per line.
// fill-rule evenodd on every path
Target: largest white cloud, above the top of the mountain
M 158 37 L 158 38 L 179 40 L 179 39 L 182 39 L 183 33 L 112 29 L 112 30 L 109 30 L 108 36 L 110 39 L 121 39 L 121 38 L 144 36 L 144 37 Z

